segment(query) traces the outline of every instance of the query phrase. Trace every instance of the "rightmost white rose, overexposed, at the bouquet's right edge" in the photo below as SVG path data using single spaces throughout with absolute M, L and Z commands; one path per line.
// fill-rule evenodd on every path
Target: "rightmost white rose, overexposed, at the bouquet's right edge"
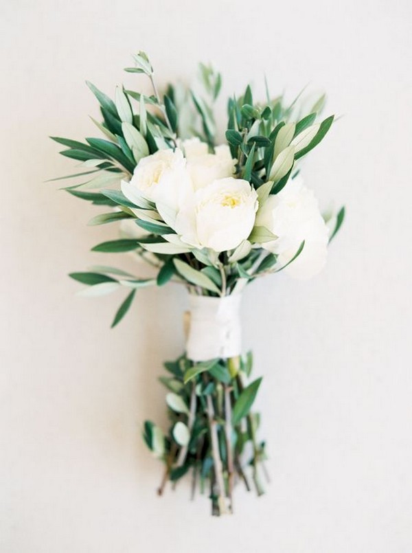
M 300 177 L 288 181 L 279 194 L 268 197 L 256 215 L 256 225 L 278 236 L 262 244 L 277 254 L 277 267 L 290 261 L 305 240 L 304 249 L 285 271 L 294 278 L 305 279 L 323 269 L 328 253 L 328 227 L 312 190 L 304 186 Z

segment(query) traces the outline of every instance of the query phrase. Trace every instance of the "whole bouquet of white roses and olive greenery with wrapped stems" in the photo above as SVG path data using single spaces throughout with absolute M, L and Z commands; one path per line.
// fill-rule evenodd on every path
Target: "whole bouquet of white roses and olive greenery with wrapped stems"
M 155 274 L 99 266 L 70 276 L 88 286 L 87 295 L 127 291 L 112 326 L 139 289 L 168 282 L 187 288 L 185 353 L 165 363 L 168 376 L 160 379 L 170 428 L 146 421 L 143 434 L 165 465 L 159 494 L 190 473 L 192 493 L 207 488 L 212 514 L 221 515 L 233 512 L 236 482 L 261 495 L 266 476 L 260 417 L 251 410 L 262 379 L 251 380 L 252 354 L 242 354 L 242 291 L 264 275 L 285 270 L 309 278 L 325 264 L 344 209 L 325 220 L 299 161 L 334 117 L 318 120 L 324 97 L 301 113 L 299 97 L 288 105 L 266 87 L 266 100 L 255 102 L 248 86 L 229 98 L 226 141 L 216 144 L 220 74 L 201 65 L 201 90 L 175 84 L 161 94 L 148 56 L 133 58 L 126 71 L 144 74 L 152 95 L 117 87 L 113 101 L 88 82 L 104 138 L 53 139 L 67 146 L 62 155 L 82 162 L 69 177 L 84 182 L 65 190 L 108 207 L 89 225 L 120 222 L 119 236 L 93 251 L 132 252 Z

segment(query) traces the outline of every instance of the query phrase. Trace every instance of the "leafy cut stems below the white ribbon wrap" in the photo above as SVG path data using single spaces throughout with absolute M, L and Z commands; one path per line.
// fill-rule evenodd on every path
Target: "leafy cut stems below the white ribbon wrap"
M 158 489 L 163 494 L 168 482 L 176 485 L 187 473 L 196 490 L 209 491 L 211 514 L 233 512 L 233 488 L 243 482 L 247 490 L 264 493 L 262 476 L 265 443 L 258 442 L 260 417 L 251 411 L 261 379 L 245 386 L 251 374 L 252 357 L 214 359 L 193 363 L 185 356 L 165 363 L 172 376 L 162 376 L 170 429 L 146 421 L 144 438 L 148 447 L 165 464 Z

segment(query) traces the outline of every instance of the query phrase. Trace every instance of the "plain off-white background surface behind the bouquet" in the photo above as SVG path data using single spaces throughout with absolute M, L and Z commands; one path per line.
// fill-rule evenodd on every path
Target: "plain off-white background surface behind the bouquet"
M 1 2 L 1 513 L 5 553 L 410 553 L 411 3 L 182 0 Z M 314 280 L 278 275 L 244 299 L 245 346 L 264 375 L 272 482 L 209 517 L 183 484 L 155 495 L 141 441 L 165 424 L 161 363 L 183 348 L 186 298 L 76 297 L 67 278 L 128 258 L 91 253 L 113 227 L 46 179 L 74 162 L 47 135 L 95 135 L 84 80 L 108 93 L 146 49 L 160 84 L 198 60 L 224 93 L 266 72 L 290 98 L 310 82 L 344 117 L 306 162 L 321 205 L 347 221 Z M 223 109 L 222 109 L 223 113 Z M 222 126 L 224 122 L 222 121 Z

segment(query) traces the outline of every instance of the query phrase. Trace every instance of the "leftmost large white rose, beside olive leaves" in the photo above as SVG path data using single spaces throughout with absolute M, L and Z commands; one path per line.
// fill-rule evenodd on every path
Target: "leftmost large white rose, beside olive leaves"
M 176 211 L 187 194 L 192 192 L 186 160 L 179 148 L 159 150 L 143 157 L 133 172 L 130 185 L 142 196 Z

